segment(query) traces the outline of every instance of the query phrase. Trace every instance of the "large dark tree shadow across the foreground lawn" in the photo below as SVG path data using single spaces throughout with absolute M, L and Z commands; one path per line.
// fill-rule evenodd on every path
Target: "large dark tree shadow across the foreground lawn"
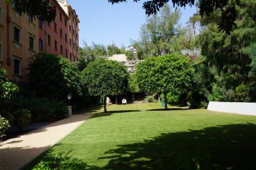
M 105 155 L 98 158 L 109 160 L 102 169 L 256 169 L 256 125 L 165 133 Z

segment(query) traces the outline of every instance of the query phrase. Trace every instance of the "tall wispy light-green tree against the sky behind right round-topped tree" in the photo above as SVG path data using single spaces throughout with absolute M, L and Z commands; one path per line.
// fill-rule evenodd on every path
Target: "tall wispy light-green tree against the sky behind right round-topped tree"
M 172 12 L 168 5 L 164 5 L 158 15 L 148 17 L 146 24 L 141 26 L 140 41 L 144 53 L 148 56 L 170 54 L 174 51 L 173 38 L 179 36 L 180 10 Z

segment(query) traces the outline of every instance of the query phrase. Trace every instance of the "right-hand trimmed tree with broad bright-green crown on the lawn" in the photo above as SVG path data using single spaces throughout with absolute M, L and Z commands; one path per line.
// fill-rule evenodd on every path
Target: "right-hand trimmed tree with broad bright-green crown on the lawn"
M 167 110 L 167 93 L 185 93 L 191 87 L 193 67 L 189 58 L 180 54 L 152 56 L 139 62 L 135 71 L 139 89 L 146 93 L 164 93 Z

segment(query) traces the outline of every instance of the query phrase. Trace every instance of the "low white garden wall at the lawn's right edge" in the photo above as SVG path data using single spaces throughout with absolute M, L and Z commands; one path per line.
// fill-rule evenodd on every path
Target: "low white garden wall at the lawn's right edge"
M 210 101 L 207 110 L 256 116 L 256 103 Z

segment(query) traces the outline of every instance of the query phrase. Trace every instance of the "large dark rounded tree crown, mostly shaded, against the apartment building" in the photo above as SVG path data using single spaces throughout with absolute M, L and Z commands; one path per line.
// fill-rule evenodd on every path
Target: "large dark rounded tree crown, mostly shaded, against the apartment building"
M 38 97 L 63 101 L 68 93 L 82 95 L 80 73 L 66 58 L 39 53 L 30 58 L 28 69 L 30 83 Z

